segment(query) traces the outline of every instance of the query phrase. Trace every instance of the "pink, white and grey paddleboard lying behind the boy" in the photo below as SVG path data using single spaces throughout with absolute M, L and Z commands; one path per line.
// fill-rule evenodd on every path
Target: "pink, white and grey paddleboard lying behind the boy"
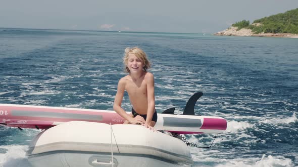
M 115 111 L 0 104 L 0 125 L 18 128 L 48 129 L 69 121 L 122 124 Z M 158 114 L 157 130 L 179 134 L 221 133 L 227 121 L 221 117 Z

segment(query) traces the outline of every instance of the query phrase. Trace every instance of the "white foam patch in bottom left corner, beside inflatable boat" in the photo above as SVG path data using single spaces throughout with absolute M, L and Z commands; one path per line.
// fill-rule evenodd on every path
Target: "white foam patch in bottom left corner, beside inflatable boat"
M 27 145 L 1 145 L 6 153 L 0 153 L 0 167 L 29 167 L 26 157 Z

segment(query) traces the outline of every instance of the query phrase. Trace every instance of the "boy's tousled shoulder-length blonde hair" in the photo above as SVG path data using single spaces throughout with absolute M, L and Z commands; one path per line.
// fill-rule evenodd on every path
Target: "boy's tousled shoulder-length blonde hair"
M 125 49 L 124 57 L 123 57 L 123 63 L 125 65 L 126 72 L 128 72 L 128 73 L 130 72 L 130 70 L 127 67 L 127 61 L 128 61 L 129 54 L 134 54 L 137 58 L 139 58 L 142 61 L 142 63 L 144 64 L 143 71 L 147 71 L 147 69 L 151 67 L 151 62 L 148 60 L 146 53 L 142 49 L 140 49 L 138 47 L 133 47 L 133 48 L 127 47 Z

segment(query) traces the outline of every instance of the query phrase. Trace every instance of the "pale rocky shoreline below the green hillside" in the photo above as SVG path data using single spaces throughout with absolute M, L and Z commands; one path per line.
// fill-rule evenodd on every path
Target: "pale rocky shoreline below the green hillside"
M 254 34 L 251 29 L 244 29 L 237 31 L 237 27 L 229 27 L 224 31 L 220 31 L 213 35 L 218 36 L 253 36 L 253 37 L 283 37 L 283 38 L 298 38 L 298 34 L 290 34 L 290 33 L 259 33 Z

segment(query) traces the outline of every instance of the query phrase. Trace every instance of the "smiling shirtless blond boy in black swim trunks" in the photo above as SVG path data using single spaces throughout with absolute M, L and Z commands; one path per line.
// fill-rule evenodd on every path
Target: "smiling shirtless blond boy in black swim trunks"
M 146 54 L 140 48 L 126 48 L 123 57 L 125 70 L 129 74 L 118 82 L 117 94 L 114 101 L 114 110 L 126 121 L 124 124 L 141 124 L 154 130 L 157 121 L 154 97 L 154 76 L 147 72 L 151 67 Z M 128 93 L 132 104 L 131 114 L 127 114 L 121 103 L 124 91 Z

